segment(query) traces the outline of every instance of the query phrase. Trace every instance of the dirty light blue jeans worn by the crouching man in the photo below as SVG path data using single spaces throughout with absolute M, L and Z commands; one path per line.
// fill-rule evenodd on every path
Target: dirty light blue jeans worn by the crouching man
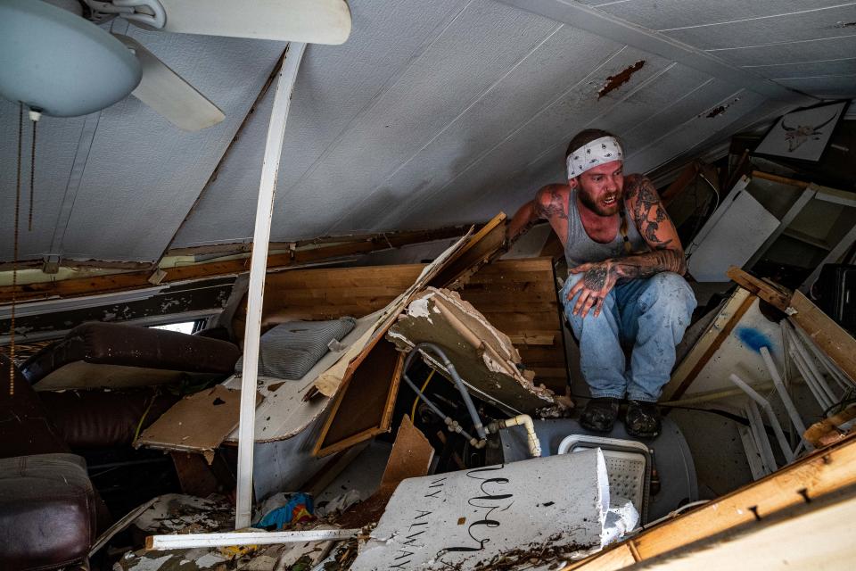
M 580 369 L 593 397 L 655 402 L 675 365 L 675 345 L 695 309 L 695 295 L 678 274 L 662 272 L 616 285 L 600 315 L 573 315 L 576 295 L 568 292 L 583 274 L 571 274 L 562 288 L 564 313 L 580 342 Z M 625 370 L 622 344 L 633 345 Z

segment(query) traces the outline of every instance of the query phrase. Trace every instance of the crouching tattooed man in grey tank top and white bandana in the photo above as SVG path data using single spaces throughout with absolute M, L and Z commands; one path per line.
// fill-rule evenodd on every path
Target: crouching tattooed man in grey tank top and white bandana
M 564 245 L 570 275 L 561 295 L 592 395 L 580 424 L 611 431 L 626 396 L 627 432 L 653 438 L 661 430 L 656 401 L 695 309 L 681 277 L 684 250 L 651 181 L 623 174 L 613 135 L 581 131 L 565 158 L 567 184 L 541 188 L 514 215 L 508 238 L 547 219 Z M 632 345 L 629 366 L 622 345 Z

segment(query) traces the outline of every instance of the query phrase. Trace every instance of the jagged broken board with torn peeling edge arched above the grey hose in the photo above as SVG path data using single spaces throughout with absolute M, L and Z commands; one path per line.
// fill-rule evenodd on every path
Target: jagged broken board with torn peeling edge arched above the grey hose
M 561 407 L 552 391 L 532 384 L 531 371 L 528 376 L 521 372 L 520 353 L 508 336 L 456 292 L 429 287 L 407 306 L 387 338 L 402 351 L 410 351 L 416 343 L 437 344 L 473 395 L 511 414 L 543 416 Z M 423 356 L 450 378 L 440 361 Z

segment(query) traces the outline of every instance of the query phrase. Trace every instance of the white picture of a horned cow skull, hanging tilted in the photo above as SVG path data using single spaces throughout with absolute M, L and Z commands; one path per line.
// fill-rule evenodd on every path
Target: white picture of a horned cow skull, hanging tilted
M 819 161 L 846 106 L 843 101 L 787 113 L 761 140 L 755 154 Z

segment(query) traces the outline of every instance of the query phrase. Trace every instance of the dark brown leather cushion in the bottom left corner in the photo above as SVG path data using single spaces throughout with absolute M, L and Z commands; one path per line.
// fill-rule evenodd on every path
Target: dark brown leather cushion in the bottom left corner
M 73 454 L 0 459 L 0 561 L 51 569 L 86 559 L 95 541 L 95 495 Z

